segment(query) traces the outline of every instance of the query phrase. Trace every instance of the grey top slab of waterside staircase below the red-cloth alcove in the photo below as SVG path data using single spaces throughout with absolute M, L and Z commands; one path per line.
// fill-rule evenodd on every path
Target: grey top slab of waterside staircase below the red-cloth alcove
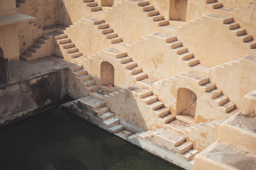
M 104 105 L 105 105 L 104 102 L 97 100 L 91 96 L 87 96 L 87 97 L 78 99 L 78 107 L 81 109 L 90 107 L 93 110 L 95 110 Z

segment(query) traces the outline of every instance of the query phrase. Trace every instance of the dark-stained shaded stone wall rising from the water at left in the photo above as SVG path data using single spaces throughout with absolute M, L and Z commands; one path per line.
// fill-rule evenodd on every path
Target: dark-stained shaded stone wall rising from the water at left
M 67 67 L 4 86 L 0 88 L 0 126 L 56 107 L 68 97 Z

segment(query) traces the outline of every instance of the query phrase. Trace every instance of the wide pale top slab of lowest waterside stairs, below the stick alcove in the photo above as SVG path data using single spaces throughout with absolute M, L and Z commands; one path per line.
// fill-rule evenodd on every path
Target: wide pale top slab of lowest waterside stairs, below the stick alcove
M 184 136 L 179 135 L 176 132 L 161 128 L 152 133 L 151 141 L 162 147 L 173 149 L 183 143 L 185 139 L 186 138 Z

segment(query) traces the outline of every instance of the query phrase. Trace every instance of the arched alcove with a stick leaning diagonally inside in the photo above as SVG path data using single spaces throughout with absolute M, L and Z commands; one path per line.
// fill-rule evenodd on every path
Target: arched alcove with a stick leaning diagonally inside
M 187 88 L 179 88 L 177 92 L 176 115 L 189 114 L 195 117 L 196 94 Z

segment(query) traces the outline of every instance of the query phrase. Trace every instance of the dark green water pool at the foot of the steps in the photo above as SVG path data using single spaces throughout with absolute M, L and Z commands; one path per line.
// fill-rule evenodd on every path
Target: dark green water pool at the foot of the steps
M 182 169 L 60 108 L 0 128 L 0 169 Z

